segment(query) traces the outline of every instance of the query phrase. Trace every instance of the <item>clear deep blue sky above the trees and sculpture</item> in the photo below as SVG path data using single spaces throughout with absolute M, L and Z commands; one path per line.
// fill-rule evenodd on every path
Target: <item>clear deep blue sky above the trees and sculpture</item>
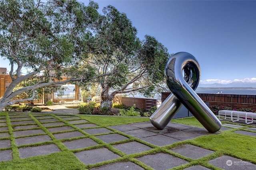
M 88 4 L 88 0 L 79 0 Z M 256 0 L 95 0 L 124 12 L 138 29 L 169 53 L 185 51 L 198 60 L 201 83 L 256 83 Z M 7 61 L 2 61 L 6 67 Z

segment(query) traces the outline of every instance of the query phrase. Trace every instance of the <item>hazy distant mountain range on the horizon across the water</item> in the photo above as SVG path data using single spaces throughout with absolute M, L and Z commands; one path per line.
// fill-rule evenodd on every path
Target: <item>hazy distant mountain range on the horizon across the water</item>
M 253 82 L 232 82 L 228 84 L 199 84 L 198 88 L 256 88 L 256 83 Z

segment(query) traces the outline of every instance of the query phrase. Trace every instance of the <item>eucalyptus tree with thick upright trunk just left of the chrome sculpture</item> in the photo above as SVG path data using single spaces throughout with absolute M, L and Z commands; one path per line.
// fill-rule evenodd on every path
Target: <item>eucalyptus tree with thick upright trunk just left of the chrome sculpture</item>
M 140 92 L 150 96 L 164 80 L 168 50 L 149 35 L 140 41 L 126 14 L 113 6 L 105 7 L 103 13 L 94 39 L 88 41 L 90 51 L 75 70 L 80 70 L 78 74 L 88 72 L 88 68 L 96 71 L 98 78 L 84 84 L 100 84 L 101 107 L 111 108 L 116 94 Z

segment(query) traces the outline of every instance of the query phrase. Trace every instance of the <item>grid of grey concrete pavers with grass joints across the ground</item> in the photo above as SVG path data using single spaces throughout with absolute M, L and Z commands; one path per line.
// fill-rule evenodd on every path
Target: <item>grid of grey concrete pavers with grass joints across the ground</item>
M 10 122 L 11 125 L 8 126 L 7 122 Z M 46 128 L 48 134 L 42 128 Z M 231 128 L 236 127 L 222 127 L 221 130 L 228 130 Z M 256 131 L 256 128 L 250 128 L 249 130 Z M 150 122 L 116 125 L 106 128 L 90 123 L 80 117 L 68 114 L 9 113 L 8 116 L 0 117 L 0 161 L 12 160 L 10 132 L 14 135 L 15 144 L 18 147 L 21 159 L 61 152 L 56 143 L 49 136 L 49 134 L 51 134 L 86 165 L 93 165 L 98 162 L 122 157 L 105 147 L 87 149 L 88 147 L 100 146 L 104 143 L 112 145 L 115 149 L 124 153 L 123 155 L 126 155 L 140 153 L 158 147 L 165 147 L 180 141 L 212 134 L 208 133 L 206 129 L 172 122 L 170 122 L 163 130 L 156 129 Z M 256 135 L 256 133 L 248 131 L 236 131 L 236 133 L 251 136 Z M 100 142 L 97 143 L 93 140 L 94 137 L 99 139 Z M 136 137 L 137 140 L 130 140 L 131 137 Z M 35 143 L 38 145 L 29 146 L 30 144 Z M 214 154 L 214 151 L 212 150 L 203 149 L 193 145 L 183 145 L 181 147 L 169 149 L 169 151 L 170 152 L 146 154 L 141 157 L 135 156 L 134 158 L 155 170 L 164 170 L 188 164 L 190 159 L 195 160 L 202 158 L 203 156 Z M 241 169 L 241 166 L 239 165 L 228 166 L 228 160 L 233 162 L 241 161 L 230 156 L 220 156 L 208 161 L 208 163 L 223 169 Z M 92 169 L 144 169 L 134 162 L 113 162 L 114 163 Z M 255 170 L 256 165 L 248 163 L 244 164 L 242 168 Z M 186 168 L 186 170 L 206 169 L 208 168 L 201 165 Z

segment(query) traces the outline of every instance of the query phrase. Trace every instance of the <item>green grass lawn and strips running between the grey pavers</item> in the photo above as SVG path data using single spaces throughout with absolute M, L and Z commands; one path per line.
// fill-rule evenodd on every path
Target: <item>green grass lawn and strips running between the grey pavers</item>
M 0 112 L 0 116 L 4 117 L 6 116 L 6 121 L 7 121 L 7 126 L 9 127 L 9 129 L 12 129 L 12 125 L 10 124 L 10 119 L 9 116 L 7 114 L 7 112 Z M 30 116 L 33 119 L 33 114 L 30 114 Z M 87 121 L 89 121 L 90 123 L 94 123 L 100 127 L 105 127 L 110 129 L 108 126 L 111 125 L 123 125 L 123 124 L 128 124 L 128 123 L 137 123 L 137 122 L 143 122 L 143 121 L 149 121 L 149 118 L 140 118 L 140 117 L 118 117 L 118 116 L 114 116 L 114 117 L 110 117 L 110 116 L 95 116 L 95 115 L 78 115 L 78 117 L 85 119 Z M 1 121 L 1 119 L 0 119 Z M 216 168 L 214 166 L 212 166 L 211 164 L 208 164 L 208 160 L 212 160 L 218 156 L 221 155 L 229 155 L 229 156 L 233 156 L 235 158 L 238 159 L 242 159 L 242 160 L 246 160 L 246 161 L 251 161 L 252 163 L 256 164 L 256 159 L 255 159 L 255 155 L 256 155 L 256 137 L 250 137 L 248 135 L 240 135 L 240 134 L 236 134 L 234 133 L 234 131 L 238 131 L 238 130 L 245 130 L 247 127 L 252 127 L 250 125 L 244 125 L 244 127 L 242 128 L 238 128 L 238 129 L 231 129 L 231 130 L 227 130 L 227 131 L 221 131 L 221 133 L 219 134 L 213 134 L 213 135 L 205 135 L 202 137 L 198 137 L 196 139 L 193 140 L 186 140 L 186 141 L 181 141 L 178 143 L 174 143 L 172 145 L 167 145 L 164 147 L 158 147 L 156 145 L 152 145 L 150 143 L 146 143 L 145 141 L 142 141 L 140 139 L 137 139 L 135 137 L 129 136 L 127 134 L 124 134 L 120 131 L 116 131 L 114 129 L 111 129 L 112 133 L 118 133 L 120 135 L 124 135 L 126 137 L 128 137 L 129 139 L 125 140 L 125 141 L 121 141 L 121 142 L 117 142 L 117 143 L 112 143 L 107 144 L 104 143 L 103 141 L 97 139 L 95 137 L 95 135 L 88 135 L 87 133 L 84 133 L 84 131 L 82 131 L 81 129 L 78 129 L 77 127 L 75 127 L 74 125 L 69 124 L 68 122 L 65 122 L 67 125 L 73 127 L 75 130 L 80 131 L 81 133 L 84 133 L 84 135 L 86 137 L 89 137 L 91 139 L 93 139 L 94 141 L 98 142 L 99 145 L 96 145 L 94 147 L 89 147 L 87 149 L 94 149 L 94 148 L 102 148 L 102 147 L 106 147 L 109 150 L 111 150 L 112 152 L 118 154 L 119 156 L 121 156 L 118 159 L 115 160 L 108 160 L 105 162 L 100 162 L 98 164 L 90 164 L 90 165 L 84 165 L 82 162 L 80 162 L 80 160 L 78 160 L 78 158 L 76 158 L 76 156 L 74 156 L 73 152 L 79 152 L 81 151 L 81 149 L 79 150 L 68 150 L 62 143 L 61 141 L 56 140 L 53 135 L 45 128 L 43 127 L 39 121 L 37 121 L 35 119 L 36 123 L 38 124 L 38 128 L 43 129 L 46 134 L 48 134 L 51 138 L 52 141 L 48 142 L 48 143 L 54 143 L 55 145 L 57 145 L 60 150 L 62 152 L 57 152 L 54 154 L 49 154 L 49 155 L 44 155 L 44 156 L 34 156 L 34 157 L 30 157 L 30 158 L 25 158 L 25 159 L 20 159 L 19 158 L 19 153 L 18 153 L 18 149 L 20 147 L 29 147 L 29 146 L 37 146 L 37 145 L 42 145 L 43 143 L 37 143 L 37 144 L 33 144 L 33 145 L 23 145 L 23 146 L 19 146 L 17 147 L 15 142 L 14 142 L 14 136 L 12 133 L 12 130 L 8 130 L 6 132 L 10 133 L 10 137 L 8 138 L 1 138 L 1 140 L 5 140 L 5 139 L 10 139 L 12 141 L 12 146 L 8 149 L 12 149 L 13 152 L 13 160 L 11 161 L 2 161 L 0 162 L 0 169 L 1 170 L 30 170 L 30 169 L 40 169 L 40 170 L 84 170 L 84 169 L 90 169 L 93 167 L 97 167 L 97 166 L 101 166 L 104 164 L 108 164 L 108 163 L 112 163 L 112 162 L 119 162 L 119 161 L 124 161 L 124 160 L 128 160 L 131 162 L 134 162 L 138 165 L 140 165 L 141 167 L 143 167 L 146 170 L 152 170 L 152 168 L 148 167 L 147 165 L 143 164 L 142 162 L 136 160 L 137 157 L 140 157 L 142 155 L 146 155 L 146 154 L 153 154 L 156 152 L 166 152 L 166 153 L 170 153 L 174 156 L 178 156 L 179 158 L 182 158 L 184 160 L 187 160 L 189 163 L 186 165 L 182 165 L 179 166 L 176 169 L 184 169 L 184 168 L 188 168 L 189 166 L 192 165 L 202 165 L 205 166 L 207 168 L 210 169 L 219 169 Z M 192 126 L 196 126 L 196 127 L 202 127 L 202 125 L 194 118 L 194 117 L 188 117 L 188 118 L 182 118 L 182 119 L 173 119 L 173 122 L 176 123 L 183 123 L 186 125 L 192 125 Z M 227 122 L 225 122 L 227 123 Z M 4 131 L 5 132 L 5 131 Z M 30 135 L 31 136 L 31 135 Z M 114 144 L 118 144 L 118 143 L 124 143 L 124 142 L 128 142 L 128 141 L 137 141 L 140 143 L 143 143 L 145 145 L 148 145 L 150 147 L 152 147 L 151 150 L 145 151 L 145 152 L 140 152 L 140 153 L 136 153 L 136 154 L 130 154 L 130 155 L 126 155 L 123 152 L 121 152 L 120 150 L 115 149 L 112 145 Z M 175 152 L 170 151 L 170 149 L 177 147 L 177 146 L 181 146 L 181 145 L 186 145 L 186 144 L 190 144 L 190 145 L 195 145 L 198 147 L 202 147 L 204 149 L 209 149 L 209 150 L 213 150 L 215 151 L 213 154 L 210 154 L 208 156 L 205 156 L 203 158 L 199 158 L 196 160 L 192 160 L 190 158 L 186 158 L 180 154 L 177 154 Z M 7 149 L 1 149 L 1 150 L 7 150 Z M 175 169 L 175 168 L 174 168 Z

